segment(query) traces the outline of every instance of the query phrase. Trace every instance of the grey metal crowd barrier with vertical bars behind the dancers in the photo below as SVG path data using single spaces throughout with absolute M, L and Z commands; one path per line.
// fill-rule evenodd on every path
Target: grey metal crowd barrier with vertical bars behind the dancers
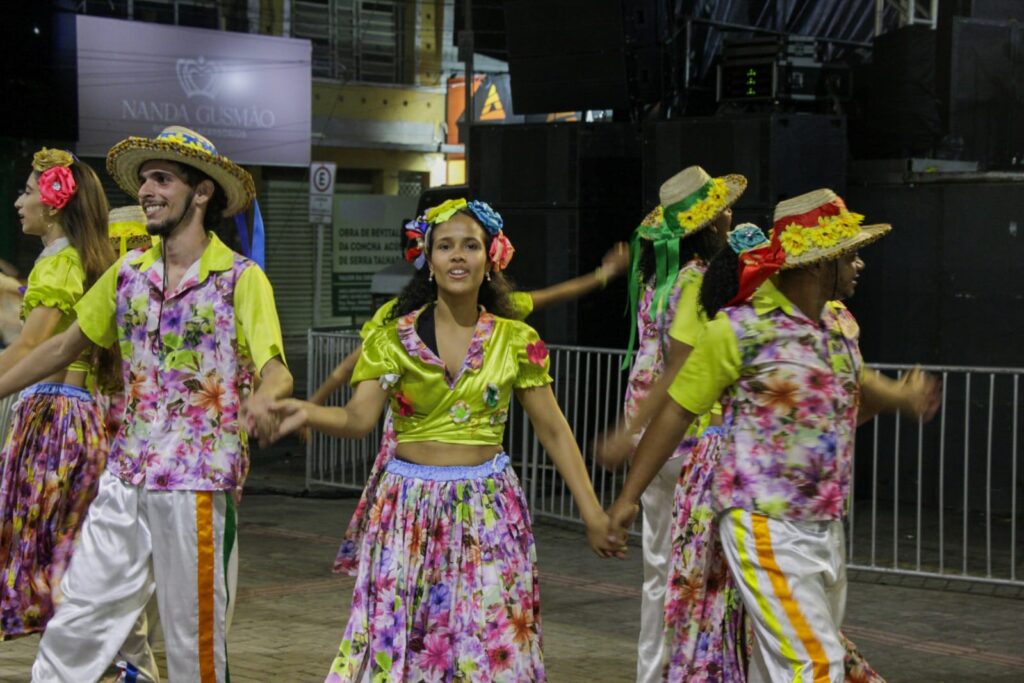
M 309 392 L 358 344 L 346 333 L 309 333 Z M 625 351 L 549 346 L 551 375 L 601 504 L 611 504 L 625 473 L 592 458 L 595 439 L 618 419 Z M 910 366 L 878 365 L 899 377 Z M 851 568 L 889 574 L 1024 587 L 1018 535 L 1022 473 L 1020 385 L 1024 369 L 925 367 L 942 382 L 942 408 L 921 424 L 885 415 L 860 428 L 847 517 Z M 347 387 L 333 404 L 348 399 Z M 307 485 L 359 490 L 380 431 L 359 440 L 317 434 L 307 443 Z M 565 482 L 547 459 L 522 409 L 506 429 L 535 519 L 582 524 Z M 635 528 L 636 532 L 638 528 Z

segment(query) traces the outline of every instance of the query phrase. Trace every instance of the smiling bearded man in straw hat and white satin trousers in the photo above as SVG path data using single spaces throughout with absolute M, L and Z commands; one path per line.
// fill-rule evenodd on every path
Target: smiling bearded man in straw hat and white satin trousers
M 0 395 L 15 391 L 90 343 L 118 343 L 124 357 L 124 422 L 33 680 L 99 678 L 156 590 L 169 678 L 226 681 L 246 432 L 271 433 L 268 408 L 292 392 L 266 275 L 208 231 L 244 211 L 255 186 L 180 127 L 119 142 L 106 166 L 161 243 L 115 263 L 78 322 L 0 381 Z

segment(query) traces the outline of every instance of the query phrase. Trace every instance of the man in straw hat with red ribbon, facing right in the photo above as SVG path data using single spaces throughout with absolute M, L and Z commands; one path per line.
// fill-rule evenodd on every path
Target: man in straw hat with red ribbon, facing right
M 859 330 L 838 300 L 863 268 L 857 250 L 891 226 L 862 220 L 821 189 L 781 202 L 770 241 L 745 233 L 731 299 L 673 382 L 610 511 L 611 531 L 625 533 L 686 428 L 721 399 L 713 495 L 754 628 L 752 681 L 844 680 L 842 517 L 858 420 L 880 410 L 927 419 L 937 408 L 922 374 L 896 383 L 863 370 Z M 713 268 L 705 288 L 716 286 Z

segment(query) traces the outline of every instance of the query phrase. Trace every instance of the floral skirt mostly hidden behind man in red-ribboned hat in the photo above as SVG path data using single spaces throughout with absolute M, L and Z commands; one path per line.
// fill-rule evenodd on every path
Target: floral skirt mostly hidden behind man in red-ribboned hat
M 712 483 L 722 445 L 721 427 L 709 427 L 684 464 L 676 486 L 672 564 L 665 600 L 672 683 L 742 683 L 754 640 L 735 580 L 722 552 Z M 846 648 L 848 683 L 885 683 L 853 641 Z

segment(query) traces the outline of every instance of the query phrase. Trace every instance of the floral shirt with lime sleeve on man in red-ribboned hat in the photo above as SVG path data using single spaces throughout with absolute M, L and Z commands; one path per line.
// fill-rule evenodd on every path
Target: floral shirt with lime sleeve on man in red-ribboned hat
M 775 286 L 723 309 L 670 389 L 700 414 L 721 395 L 720 510 L 778 519 L 840 519 L 857 427 L 859 328 L 839 302 L 814 323 Z

